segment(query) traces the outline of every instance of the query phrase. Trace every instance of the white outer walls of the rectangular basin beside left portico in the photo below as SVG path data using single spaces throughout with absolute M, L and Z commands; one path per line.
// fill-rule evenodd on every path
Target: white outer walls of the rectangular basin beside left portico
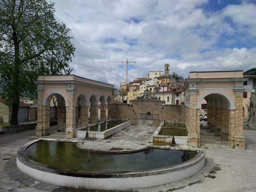
M 106 139 L 111 135 L 123 130 L 124 128 L 127 128 L 128 126 L 131 126 L 131 121 L 124 122 L 105 131 L 82 131 L 81 129 L 86 128 L 82 127 L 81 129 L 76 131 L 76 137 L 85 138 L 87 133 L 88 138 Z

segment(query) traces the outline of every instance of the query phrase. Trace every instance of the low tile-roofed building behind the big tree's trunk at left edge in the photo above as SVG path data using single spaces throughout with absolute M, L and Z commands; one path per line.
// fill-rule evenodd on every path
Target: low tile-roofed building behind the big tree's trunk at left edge
M 3 123 L 10 123 L 11 121 L 11 106 L 6 105 L 7 99 L 0 98 L 0 120 Z M 18 111 L 18 122 L 28 121 L 28 108 L 30 106 L 24 102 L 20 102 Z

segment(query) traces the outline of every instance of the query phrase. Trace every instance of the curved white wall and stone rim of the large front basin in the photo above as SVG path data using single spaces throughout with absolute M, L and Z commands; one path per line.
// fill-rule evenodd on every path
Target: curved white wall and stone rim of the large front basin
M 131 172 L 72 171 L 37 163 L 25 155 L 25 149 L 41 139 L 23 145 L 17 152 L 17 168 L 26 176 L 44 183 L 58 186 L 98 189 L 127 190 L 173 183 L 188 178 L 203 169 L 204 150 L 177 165 L 152 170 Z

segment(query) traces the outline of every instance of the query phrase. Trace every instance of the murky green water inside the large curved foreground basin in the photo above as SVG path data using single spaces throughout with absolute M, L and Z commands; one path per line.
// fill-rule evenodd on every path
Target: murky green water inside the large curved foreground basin
M 133 154 L 101 154 L 76 147 L 76 143 L 41 140 L 30 145 L 25 155 L 41 164 L 67 170 L 122 172 L 176 165 L 196 156 L 195 151 L 148 149 Z M 88 161 L 89 158 L 89 161 Z

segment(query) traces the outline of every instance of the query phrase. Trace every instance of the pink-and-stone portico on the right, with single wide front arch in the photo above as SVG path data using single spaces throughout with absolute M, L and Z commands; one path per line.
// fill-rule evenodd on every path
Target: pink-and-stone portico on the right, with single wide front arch
M 243 136 L 243 71 L 190 72 L 184 84 L 188 145 L 200 146 L 200 109 L 207 102 L 207 127 L 228 140 L 229 147 L 245 149 Z

